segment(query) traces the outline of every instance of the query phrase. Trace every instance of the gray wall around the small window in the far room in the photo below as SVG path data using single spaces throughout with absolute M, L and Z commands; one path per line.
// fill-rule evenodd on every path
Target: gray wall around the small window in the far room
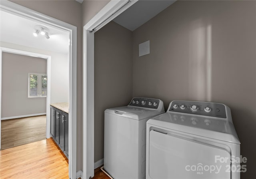
M 2 53 L 1 117 L 46 113 L 46 97 L 28 98 L 28 73 L 46 74 L 46 60 Z

